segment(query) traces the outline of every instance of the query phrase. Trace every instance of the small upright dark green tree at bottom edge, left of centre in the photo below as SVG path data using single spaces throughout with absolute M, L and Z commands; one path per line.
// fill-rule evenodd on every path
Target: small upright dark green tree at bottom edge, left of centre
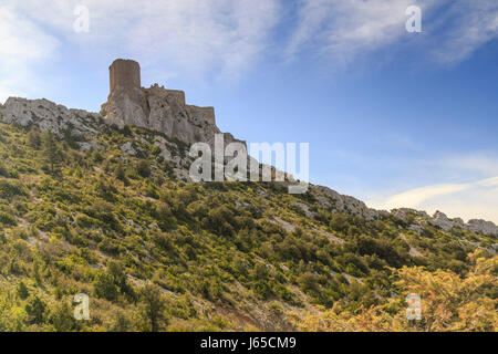
M 147 283 L 141 291 L 141 300 L 142 315 L 148 322 L 148 331 L 158 332 L 166 320 L 164 314 L 166 304 L 160 289 L 153 283 Z

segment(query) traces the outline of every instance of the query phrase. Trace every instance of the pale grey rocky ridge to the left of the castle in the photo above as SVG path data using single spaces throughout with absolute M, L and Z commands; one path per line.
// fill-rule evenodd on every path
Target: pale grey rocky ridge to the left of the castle
M 48 100 L 25 100 L 9 97 L 2 108 L 2 119 L 20 126 L 37 125 L 41 132 L 51 131 L 58 137 L 70 133 L 72 136 L 97 134 L 101 121 L 96 113 L 68 110 Z

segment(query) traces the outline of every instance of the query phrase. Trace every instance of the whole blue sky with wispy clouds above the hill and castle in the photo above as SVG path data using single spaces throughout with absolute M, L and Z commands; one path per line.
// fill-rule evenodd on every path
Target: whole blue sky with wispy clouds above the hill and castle
M 310 143 L 312 183 L 498 222 L 497 39 L 496 0 L 1 0 L 0 102 L 98 111 L 111 62 L 135 59 L 221 131 Z

